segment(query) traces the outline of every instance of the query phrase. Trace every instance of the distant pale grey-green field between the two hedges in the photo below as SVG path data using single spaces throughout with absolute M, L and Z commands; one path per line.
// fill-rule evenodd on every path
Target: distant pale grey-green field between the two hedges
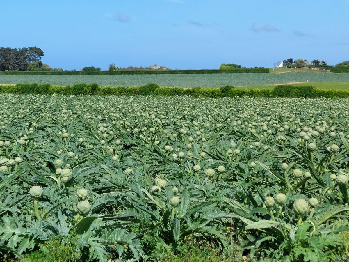
M 289 82 L 349 82 L 349 74 L 290 72 L 283 74 L 174 74 L 174 75 L 0 75 L 0 84 L 50 83 L 66 86 L 97 83 L 100 86 L 220 87 L 275 85 Z

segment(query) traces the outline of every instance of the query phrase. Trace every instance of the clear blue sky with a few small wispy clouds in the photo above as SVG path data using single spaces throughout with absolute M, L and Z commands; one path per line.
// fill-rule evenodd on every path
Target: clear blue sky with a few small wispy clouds
M 0 46 L 84 66 L 273 67 L 289 57 L 349 60 L 349 0 L 2 1 Z

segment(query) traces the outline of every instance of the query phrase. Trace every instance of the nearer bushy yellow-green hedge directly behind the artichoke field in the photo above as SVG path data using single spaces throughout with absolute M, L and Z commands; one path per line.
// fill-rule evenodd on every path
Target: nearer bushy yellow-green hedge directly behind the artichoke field
M 161 87 L 149 83 L 140 87 L 100 87 L 96 83 L 78 83 L 73 86 L 38 85 L 24 83 L 0 86 L 0 93 L 12 94 L 61 94 L 61 95 L 100 95 L 100 96 L 193 96 L 193 97 L 326 97 L 349 98 L 349 91 L 315 89 L 313 86 L 279 85 L 274 89 L 239 89 L 233 86 L 220 88 L 179 88 Z

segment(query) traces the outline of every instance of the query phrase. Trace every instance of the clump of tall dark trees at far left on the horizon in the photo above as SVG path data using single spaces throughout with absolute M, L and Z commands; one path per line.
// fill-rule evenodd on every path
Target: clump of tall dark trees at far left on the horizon
M 29 48 L 0 47 L 0 71 L 30 71 L 43 66 L 44 51 L 36 46 Z

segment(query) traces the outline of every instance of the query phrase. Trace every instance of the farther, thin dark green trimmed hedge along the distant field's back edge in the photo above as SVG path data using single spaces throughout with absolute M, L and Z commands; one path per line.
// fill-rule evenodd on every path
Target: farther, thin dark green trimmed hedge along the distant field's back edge
M 0 71 L 0 75 L 147 75 L 147 74 L 233 74 L 269 73 L 269 68 L 238 68 L 232 70 L 120 70 L 120 71 Z

